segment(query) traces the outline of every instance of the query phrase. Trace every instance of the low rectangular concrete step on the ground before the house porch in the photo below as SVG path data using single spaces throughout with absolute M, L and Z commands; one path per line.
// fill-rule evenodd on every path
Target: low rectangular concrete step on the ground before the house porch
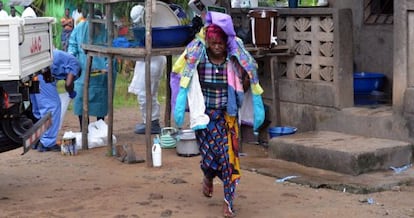
M 409 142 L 332 131 L 296 133 L 269 141 L 270 158 L 350 175 L 409 164 L 412 153 Z

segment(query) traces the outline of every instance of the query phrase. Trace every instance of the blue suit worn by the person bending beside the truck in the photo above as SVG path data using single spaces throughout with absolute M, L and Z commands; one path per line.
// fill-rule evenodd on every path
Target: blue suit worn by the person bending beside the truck
M 61 107 L 59 93 L 56 87 L 57 80 L 65 80 L 69 73 L 75 75 L 75 78 L 78 78 L 80 65 L 74 56 L 55 49 L 53 51 L 53 64 L 50 69 L 56 80 L 51 83 L 46 83 L 43 75 L 40 74 L 38 77 L 40 93 L 30 94 L 32 112 L 37 119 L 41 119 L 48 112 L 52 113 L 52 125 L 40 138 L 40 142 L 44 147 L 56 145 L 56 139 L 59 134 Z

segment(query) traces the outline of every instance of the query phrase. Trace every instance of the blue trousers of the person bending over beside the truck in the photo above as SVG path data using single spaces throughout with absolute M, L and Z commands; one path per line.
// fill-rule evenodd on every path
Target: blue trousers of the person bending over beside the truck
M 41 119 L 48 112 L 52 113 L 52 125 L 40 138 L 44 147 L 56 145 L 60 123 L 60 98 L 56 88 L 56 82 L 46 83 L 43 75 L 39 75 L 40 93 L 30 94 L 32 112 L 37 119 Z

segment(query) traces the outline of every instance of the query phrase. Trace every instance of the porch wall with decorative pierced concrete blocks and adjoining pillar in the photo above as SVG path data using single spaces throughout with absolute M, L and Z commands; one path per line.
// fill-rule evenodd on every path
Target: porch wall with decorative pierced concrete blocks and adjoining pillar
M 281 123 L 314 130 L 321 117 L 353 106 L 352 12 L 335 8 L 276 10 L 278 44 L 288 45 L 294 53 L 274 63 Z M 249 26 L 247 14 L 248 10 L 232 9 L 236 28 Z M 268 67 L 259 69 L 259 75 L 261 70 Z M 266 81 L 262 83 L 265 93 L 271 89 Z

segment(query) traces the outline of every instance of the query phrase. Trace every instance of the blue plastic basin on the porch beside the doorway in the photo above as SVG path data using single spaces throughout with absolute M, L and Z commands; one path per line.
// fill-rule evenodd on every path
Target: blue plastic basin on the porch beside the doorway
M 370 94 L 372 91 L 379 91 L 384 85 L 384 79 L 385 75 L 382 73 L 354 73 L 354 93 Z

